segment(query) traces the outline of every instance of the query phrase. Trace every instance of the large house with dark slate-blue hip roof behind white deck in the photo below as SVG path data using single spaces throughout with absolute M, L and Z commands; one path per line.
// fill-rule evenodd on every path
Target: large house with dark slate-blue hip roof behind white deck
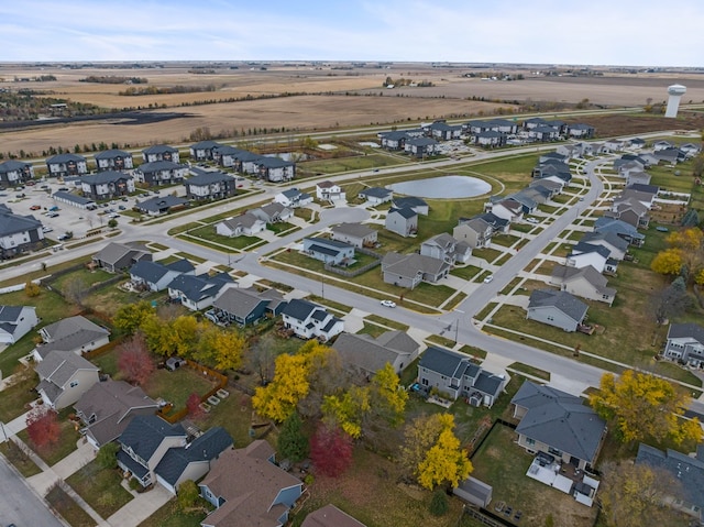
M 580 397 L 526 381 L 510 399 L 518 444 L 580 470 L 592 470 L 606 437 L 606 422 Z

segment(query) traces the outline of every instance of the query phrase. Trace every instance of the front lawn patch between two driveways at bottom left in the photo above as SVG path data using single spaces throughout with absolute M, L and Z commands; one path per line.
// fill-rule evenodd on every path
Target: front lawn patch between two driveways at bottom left
M 112 516 L 134 497 L 120 482 L 118 469 L 101 469 L 94 460 L 66 480 L 74 491 L 103 518 Z

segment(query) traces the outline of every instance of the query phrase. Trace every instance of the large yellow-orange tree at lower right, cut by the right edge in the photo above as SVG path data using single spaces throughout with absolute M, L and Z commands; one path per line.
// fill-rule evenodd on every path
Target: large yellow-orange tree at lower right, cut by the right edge
M 682 417 L 689 402 L 686 394 L 664 378 L 631 370 L 620 377 L 605 373 L 598 392 L 590 395 L 592 408 L 610 422 L 623 442 L 666 438 L 678 444 L 701 441 L 698 420 Z

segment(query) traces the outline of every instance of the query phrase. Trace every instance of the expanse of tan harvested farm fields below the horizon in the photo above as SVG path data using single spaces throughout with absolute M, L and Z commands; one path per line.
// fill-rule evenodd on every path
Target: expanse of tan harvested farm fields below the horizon
M 380 68 L 339 69 L 331 65 L 267 65 L 266 69 L 244 65 L 239 69 L 213 68 L 212 73 L 194 74 L 189 66 L 163 68 L 81 68 L 43 67 L 0 64 L 0 89 L 26 88 L 46 91 L 52 97 L 94 103 L 107 109 L 158 108 L 154 112 L 174 113 L 161 122 L 129 119 L 42 124 L 40 127 L 0 132 L 0 150 L 41 154 L 51 146 L 73 150 L 74 145 L 106 142 L 121 146 L 154 143 L 188 143 L 198 128 L 213 135 L 232 136 L 249 130 L 286 129 L 287 131 L 321 131 L 370 124 L 392 124 L 439 118 L 476 118 L 495 114 L 497 110 L 513 112 L 530 101 L 554 101 L 564 106 L 588 99 L 592 105 L 607 107 L 644 106 L 667 98 L 667 86 L 688 86 L 683 102 L 704 101 L 704 79 L 688 74 L 612 75 L 603 77 L 534 77 L 524 70 L 525 80 L 486 81 L 468 78 L 462 68 L 431 67 L 421 64 L 394 64 Z M 484 72 L 486 73 L 486 72 Z M 513 72 L 515 73 L 515 72 Z M 54 75 L 55 81 L 16 83 Z M 206 87 L 215 91 L 125 97 L 118 95 L 125 84 L 81 83 L 88 76 L 144 77 L 143 87 Z M 406 78 L 435 86 L 384 89 L 384 80 Z M 308 94 L 273 97 L 280 94 Z M 356 95 L 355 95 L 356 94 Z M 219 102 L 227 99 L 237 100 Z M 483 98 L 484 101 L 471 100 Z M 204 103 L 205 101 L 216 103 Z M 640 133 L 673 128 L 661 118 L 590 118 L 600 135 Z M 628 127 L 634 128 L 628 128 Z M 684 119 L 674 128 L 701 129 L 698 119 Z M 70 131 L 69 131 L 70 129 Z

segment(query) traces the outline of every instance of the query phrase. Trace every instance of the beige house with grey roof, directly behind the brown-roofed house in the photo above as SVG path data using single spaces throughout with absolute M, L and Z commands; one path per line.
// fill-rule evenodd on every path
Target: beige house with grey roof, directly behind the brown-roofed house
M 54 350 L 34 366 L 40 377 L 36 391 L 45 405 L 56 410 L 76 403 L 99 382 L 98 366 L 73 351 Z

